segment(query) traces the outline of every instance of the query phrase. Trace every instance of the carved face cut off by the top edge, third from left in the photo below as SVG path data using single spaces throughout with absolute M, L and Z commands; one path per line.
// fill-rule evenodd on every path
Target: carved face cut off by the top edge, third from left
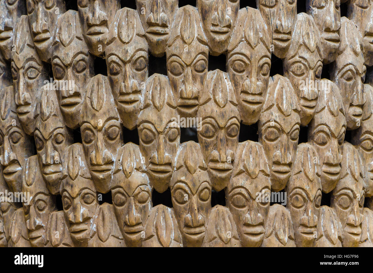
M 83 35 L 93 55 L 104 54 L 110 23 L 118 9 L 119 0 L 78 0 Z

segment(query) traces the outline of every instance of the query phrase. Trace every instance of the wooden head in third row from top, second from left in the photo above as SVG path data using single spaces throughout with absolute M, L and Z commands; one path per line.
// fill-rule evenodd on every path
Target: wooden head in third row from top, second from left
M 36 107 L 35 146 L 39 166 L 51 194 L 58 194 L 61 182 L 63 153 L 73 143 L 71 131 L 63 120 L 56 92 L 44 85 Z

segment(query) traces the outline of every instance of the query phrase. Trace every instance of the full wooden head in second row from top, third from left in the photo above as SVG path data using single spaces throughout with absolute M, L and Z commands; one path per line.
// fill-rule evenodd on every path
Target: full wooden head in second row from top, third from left
M 148 78 L 148 44 L 136 10 L 117 11 L 105 50 L 107 75 L 123 125 L 136 128 Z

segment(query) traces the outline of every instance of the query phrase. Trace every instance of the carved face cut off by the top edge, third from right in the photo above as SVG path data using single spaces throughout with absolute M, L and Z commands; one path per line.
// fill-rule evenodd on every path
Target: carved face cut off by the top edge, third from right
M 273 54 L 285 57 L 291 43 L 297 18 L 297 0 L 256 0 L 269 32 L 272 32 Z

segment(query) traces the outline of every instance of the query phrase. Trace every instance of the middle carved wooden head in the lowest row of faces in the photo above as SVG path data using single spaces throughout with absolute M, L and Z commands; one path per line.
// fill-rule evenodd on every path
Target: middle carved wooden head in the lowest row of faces
M 170 188 L 183 246 L 200 247 L 211 211 L 211 182 L 199 144 L 180 146 Z

